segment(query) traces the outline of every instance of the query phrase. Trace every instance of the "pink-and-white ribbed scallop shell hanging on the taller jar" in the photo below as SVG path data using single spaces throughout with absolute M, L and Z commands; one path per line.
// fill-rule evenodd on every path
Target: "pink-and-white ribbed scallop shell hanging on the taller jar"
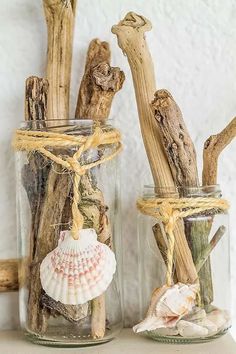
M 94 229 L 79 231 L 74 240 L 70 231 L 60 234 L 57 248 L 40 266 L 44 291 L 54 300 L 67 305 L 84 304 L 101 295 L 116 270 L 114 253 L 97 241 Z

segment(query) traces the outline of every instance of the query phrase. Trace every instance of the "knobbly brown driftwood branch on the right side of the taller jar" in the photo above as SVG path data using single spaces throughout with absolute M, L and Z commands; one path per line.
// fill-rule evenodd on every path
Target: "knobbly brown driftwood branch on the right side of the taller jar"
M 110 67 L 110 48 L 107 42 L 99 39 L 91 41 L 86 58 L 85 73 L 81 81 L 75 116 L 78 119 L 106 120 L 109 116 L 112 99 L 121 89 L 124 73 L 119 68 Z M 111 229 L 106 215 L 102 191 L 98 189 L 90 175 L 82 179 L 81 205 L 85 219 L 92 220 L 90 227 L 95 228 L 100 242 L 112 244 Z M 83 183 L 85 185 L 83 186 Z M 89 193 L 86 193 L 89 191 Z M 83 196 L 83 193 L 86 195 Z M 84 209 L 85 200 L 92 200 L 91 206 Z M 95 202 L 97 200 L 97 202 Z M 99 201 L 99 203 L 98 203 Z M 88 203 L 85 203 L 85 206 Z M 93 215 L 90 218 L 90 215 Z M 98 216 L 98 219 L 95 217 Z M 96 222 L 98 220 L 98 223 Z M 91 302 L 91 335 L 103 338 L 106 329 L 105 296 L 102 294 Z

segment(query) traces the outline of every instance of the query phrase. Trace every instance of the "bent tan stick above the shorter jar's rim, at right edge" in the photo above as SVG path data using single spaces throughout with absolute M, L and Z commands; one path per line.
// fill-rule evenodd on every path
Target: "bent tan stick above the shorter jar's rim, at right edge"
M 224 148 L 236 136 L 236 117 L 219 134 L 210 136 L 203 150 L 202 184 L 211 186 L 217 183 L 218 158 Z

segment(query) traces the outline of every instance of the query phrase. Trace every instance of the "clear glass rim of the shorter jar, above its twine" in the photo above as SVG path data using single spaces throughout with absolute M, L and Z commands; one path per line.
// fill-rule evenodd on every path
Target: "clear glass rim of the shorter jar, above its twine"
M 144 198 L 220 198 L 221 195 L 220 185 L 218 184 L 198 187 L 155 187 L 154 185 L 145 185 L 143 188 Z

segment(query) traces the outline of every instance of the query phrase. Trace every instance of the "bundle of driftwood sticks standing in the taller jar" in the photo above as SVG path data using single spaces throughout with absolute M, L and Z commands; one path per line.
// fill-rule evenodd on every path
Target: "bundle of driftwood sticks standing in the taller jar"
M 76 0 L 43 0 L 43 5 L 48 29 L 46 78 L 32 76 L 26 80 L 27 129 L 60 129 L 61 133 L 73 129 L 73 134 L 76 134 L 76 125 L 71 127 L 68 121 Z M 110 59 L 109 44 L 92 40 L 74 119 L 107 120 L 113 97 L 124 82 L 124 73 L 117 67 L 111 67 Z M 19 287 L 27 286 L 27 328 L 33 333 L 43 335 L 50 317 L 63 316 L 72 323 L 78 323 L 91 316 L 91 336 L 103 338 L 106 329 L 104 295 L 83 305 L 65 305 L 54 301 L 42 289 L 40 264 L 57 246 L 60 231 L 68 229 L 71 221 L 72 179 L 64 173 L 62 166 L 52 164 L 37 152 L 30 154 L 27 160 L 21 175 L 31 209 L 29 257 L 20 261 L 19 276 L 17 260 L 1 262 L 1 290 L 16 290 L 18 278 Z M 85 227 L 94 228 L 98 240 L 112 247 L 106 214 L 108 207 L 92 172 L 88 171 L 81 177 L 79 192 L 79 208 Z

